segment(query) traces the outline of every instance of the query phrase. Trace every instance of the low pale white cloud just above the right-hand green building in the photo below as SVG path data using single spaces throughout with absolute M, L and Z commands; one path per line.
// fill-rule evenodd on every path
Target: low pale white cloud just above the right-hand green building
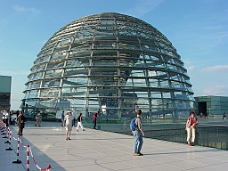
M 204 94 L 207 94 L 207 95 L 227 96 L 228 86 L 214 85 L 214 86 L 204 88 L 203 92 Z

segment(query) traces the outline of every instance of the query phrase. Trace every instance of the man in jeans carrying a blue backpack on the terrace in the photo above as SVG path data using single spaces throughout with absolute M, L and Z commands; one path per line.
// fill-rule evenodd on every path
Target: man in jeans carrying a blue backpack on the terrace
M 134 156 L 141 156 L 142 145 L 143 145 L 143 136 L 145 133 L 142 129 L 142 121 L 141 121 L 142 110 L 137 110 L 137 116 L 135 119 L 136 129 L 132 130 L 134 135 L 134 145 L 133 145 L 133 153 Z

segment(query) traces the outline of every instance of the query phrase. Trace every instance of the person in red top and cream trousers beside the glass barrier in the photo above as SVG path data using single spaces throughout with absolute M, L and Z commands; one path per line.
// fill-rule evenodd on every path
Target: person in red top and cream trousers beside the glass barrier
M 198 124 L 198 119 L 195 117 L 195 113 L 191 111 L 190 116 L 187 119 L 186 128 L 185 128 L 185 130 L 187 130 L 188 146 L 194 145 L 195 132 L 196 132 L 195 129 L 197 124 Z

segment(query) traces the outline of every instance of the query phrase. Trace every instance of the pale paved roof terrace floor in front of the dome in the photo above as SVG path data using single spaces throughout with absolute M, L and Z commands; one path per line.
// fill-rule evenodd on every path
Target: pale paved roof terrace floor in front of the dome
M 17 127 L 11 127 L 13 135 Z M 65 140 L 65 128 L 56 122 L 43 122 L 42 127 L 34 127 L 28 121 L 22 142 L 30 145 L 37 165 L 53 171 L 226 171 L 228 151 L 172 143 L 144 138 L 144 156 L 133 156 L 133 137 L 128 135 L 96 131 L 72 132 L 70 141 Z M 14 151 L 6 151 L 8 144 L 0 138 L 1 170 L 24 171 L 26 150 L 20 148 L 22 164 L 12 164 L 17 159 L 17 141 L 12 140 Z M 30 170 L 38 170 L 30 157 Z

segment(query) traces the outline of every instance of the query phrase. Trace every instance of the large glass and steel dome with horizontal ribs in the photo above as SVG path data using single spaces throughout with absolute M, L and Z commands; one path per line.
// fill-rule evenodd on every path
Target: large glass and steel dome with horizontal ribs
M 172 43 L 132 16 L 100 13 L 75 20 L 42 47 L 28 75 L 27 112 L 100 111 L 123 117 L 187 115 L 193 91 Z

